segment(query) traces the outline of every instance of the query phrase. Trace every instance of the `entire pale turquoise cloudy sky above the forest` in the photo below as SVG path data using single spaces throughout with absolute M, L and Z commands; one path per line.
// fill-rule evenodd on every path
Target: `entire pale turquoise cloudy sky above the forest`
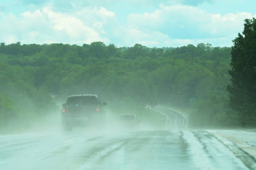
M 0 42 L 232 46 L 256 0 L 1 0 Z

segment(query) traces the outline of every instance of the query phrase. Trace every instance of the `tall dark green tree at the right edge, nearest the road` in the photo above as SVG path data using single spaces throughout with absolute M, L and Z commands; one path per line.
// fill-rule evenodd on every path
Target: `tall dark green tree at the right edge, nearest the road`
M 243 35 L 233 40 L 231 84 L 228 85 L 231 106 L 241 113 L 243 126 L 256 125 L 256 19 L 246 19 Z

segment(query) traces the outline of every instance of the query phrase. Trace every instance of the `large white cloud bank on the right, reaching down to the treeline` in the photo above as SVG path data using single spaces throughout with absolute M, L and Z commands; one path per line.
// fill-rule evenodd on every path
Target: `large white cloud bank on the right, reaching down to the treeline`
M 250 13 L 212 14 L 197 7 L 185 5 L 160 5 L 154 13 L 130 14 L 128 24 L 138 30 L 136 37 L 142 42 L 159 42 L 159 45 L 186 45 L 196 42 L 230 46 L 238 32 L 243 30 Z M 141 32 L 141 35 L 138 35 Z M 150 38 L 144 34 L 150 35 Z M 158 32 L 158 36 L 156 35 Z M 161 35 L 163 36 L 159 36 Z M 147 40 L 147 41 L 146 41 Z M 219 42 L 217 42 L 218 40 Z M 226 44 L 222 43 L 225 42 Z

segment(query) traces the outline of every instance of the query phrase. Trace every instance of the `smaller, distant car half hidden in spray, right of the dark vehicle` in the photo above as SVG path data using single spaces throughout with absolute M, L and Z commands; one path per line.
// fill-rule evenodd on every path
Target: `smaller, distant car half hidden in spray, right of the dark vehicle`
M 138 129 L 140 120 L 135 114 L 122 114 L 118 117 L 118 124 L 121 128 Z

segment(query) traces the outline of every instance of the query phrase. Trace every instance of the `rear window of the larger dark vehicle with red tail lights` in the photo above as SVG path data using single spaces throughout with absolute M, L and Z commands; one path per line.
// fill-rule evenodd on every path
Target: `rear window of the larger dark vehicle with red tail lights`
M 69 105 L 97 105 L 95 96 L 72 96 L 67 99 Z

